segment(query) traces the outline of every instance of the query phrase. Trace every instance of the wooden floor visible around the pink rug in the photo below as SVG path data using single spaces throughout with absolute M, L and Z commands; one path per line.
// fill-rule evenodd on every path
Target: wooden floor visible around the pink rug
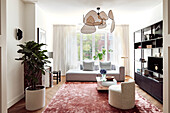
M 126 76 L 125 81 L 128 81 L 129 79 L 131 79 L 131 77 Z M 54 86 L 52 88 L 46 89 L 46 106 L 50 103 L 51 99 L 56 94 L 57 90 L 64 83 L 65 83 L 65 77 L 63 76 L 61 79 L 61 82 L 58 85 L 56 85 L 56 82 L 54 81 Z M 163 110 L 163 105 L 161 103 L 159 103 L 157 100 L 155 100 L 149 94 L 147 94 L 145 91 L 140 89 L 137 85 L 136 85 L 136 90 L 139 94 L 141 94 L 143 97 L 145 97 L 147 100 L 149 100 L 152 104 L 157 106 L 160 110 Z M 25 100 L 22 99 L 15 105 L 13 105 L 11 108 L 9 108 L 8 113 L 41 113 L 46 108 L 46 106 L 40 110 L 30 112 L 25 109 Z

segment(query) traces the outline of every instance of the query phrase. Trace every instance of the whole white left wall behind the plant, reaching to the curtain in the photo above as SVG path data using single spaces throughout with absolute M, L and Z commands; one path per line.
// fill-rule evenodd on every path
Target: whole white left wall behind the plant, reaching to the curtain
M 37 40 L 37 27 L 46 30 L 47 47 L 52 51 L 52 24 L 46 20 L 47 15 L 34 3 L 21 0 L 7 0 L 7 107 L 11 107 L 24 97 L 24 69 L 15 58 L 17 44 Z M 16 40 L 16 29 L 23 31 L 23 39 Z

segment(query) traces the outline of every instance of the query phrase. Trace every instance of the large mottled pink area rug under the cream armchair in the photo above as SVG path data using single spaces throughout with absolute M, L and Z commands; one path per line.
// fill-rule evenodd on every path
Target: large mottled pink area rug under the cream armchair
M 108 103 L 108 93 L 98 92 L 95 82 L 68 82 L 61 86 L 43 113 L 162 113 L 136 93 L 136 106 L 120 110 Z

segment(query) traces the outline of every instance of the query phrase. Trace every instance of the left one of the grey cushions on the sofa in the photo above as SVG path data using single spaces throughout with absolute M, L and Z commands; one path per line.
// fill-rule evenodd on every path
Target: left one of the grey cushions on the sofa
M 83 61 L 83 71 L 93 71 L 94 62 L 85 62 Z

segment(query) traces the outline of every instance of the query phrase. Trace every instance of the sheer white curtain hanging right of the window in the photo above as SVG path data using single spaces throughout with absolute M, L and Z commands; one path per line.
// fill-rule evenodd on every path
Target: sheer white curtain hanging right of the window
M 116 25 L 113 31 L 113 63 L 124 65 L 129 75 L 129 26 Z M 127 57 L 127 58 L 122 58 Z

